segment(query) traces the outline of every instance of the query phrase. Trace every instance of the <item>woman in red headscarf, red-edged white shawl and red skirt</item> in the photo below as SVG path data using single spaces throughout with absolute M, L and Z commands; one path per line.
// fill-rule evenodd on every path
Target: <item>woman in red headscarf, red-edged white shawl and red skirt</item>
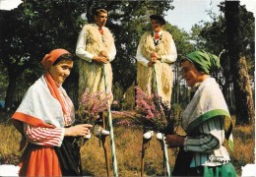
M 45 74 L 27 91 L 12 120 L 25 148 L 20 176 L 83 175 L 76 137 L 90 134 L 92 125 L 75 125 L 74 105 L 62 84 L 70 75 L 74 57 L 54 49 L 41 61 Z

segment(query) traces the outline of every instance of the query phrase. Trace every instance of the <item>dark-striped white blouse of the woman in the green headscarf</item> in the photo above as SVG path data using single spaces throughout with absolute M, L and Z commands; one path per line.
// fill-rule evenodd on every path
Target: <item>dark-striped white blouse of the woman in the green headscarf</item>
M 184 150 L 193 152 L 190 167 L 219 166 L 230 162 L 224 148 L 223 117 L 212 118 L 200 125 L 198 136 L 185 138 Z

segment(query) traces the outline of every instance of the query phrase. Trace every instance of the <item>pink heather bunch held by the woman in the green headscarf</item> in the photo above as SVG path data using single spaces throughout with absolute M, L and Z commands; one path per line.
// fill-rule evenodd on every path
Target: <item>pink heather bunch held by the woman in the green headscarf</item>
M 136 87 L 137 118 L 147 129 L 161 133 L 173 133 L 175 119 L 171 116 L 170 108 L 162 102 L 160 95 L 149 95 Z

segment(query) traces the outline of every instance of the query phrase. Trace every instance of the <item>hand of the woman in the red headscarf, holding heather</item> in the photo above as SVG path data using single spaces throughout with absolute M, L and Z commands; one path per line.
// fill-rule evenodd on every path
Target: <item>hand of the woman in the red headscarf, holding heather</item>
M 85 138 L 88 134 L 90 134 L 90 129 L 92 129 L 92 127 L 93 125 L 91 124 L 80 124 L 69 128 L 65 128 L 65 136 L 81 136 Z

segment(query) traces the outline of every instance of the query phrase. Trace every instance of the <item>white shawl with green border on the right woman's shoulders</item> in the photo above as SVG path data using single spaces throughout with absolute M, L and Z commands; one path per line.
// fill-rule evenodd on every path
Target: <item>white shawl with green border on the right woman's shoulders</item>
M 214 78 L 205 80 L 195 92 L 182 115 L 182 128 L 189 135 L 203 122 L 216 116 L 224 116 L 224 132 L 228 146 L 233 149 L 232 121 L 224 100 L 224 94 Z

